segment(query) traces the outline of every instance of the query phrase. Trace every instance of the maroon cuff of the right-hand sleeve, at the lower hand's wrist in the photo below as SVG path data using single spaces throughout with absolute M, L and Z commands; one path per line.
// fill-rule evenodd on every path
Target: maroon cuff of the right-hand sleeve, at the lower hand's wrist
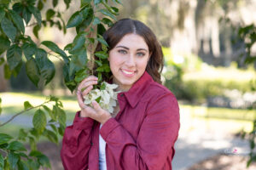
M 102 139 L 107 141 L 108 134 L 113 131 L 114 128 L 119 126 L 119 122 L 117 122 L 113 117 L 108 119 L 107 122 L 105 122 L 102 125 L 102 128 L 100 129 L 100 134 L 102 136 Z

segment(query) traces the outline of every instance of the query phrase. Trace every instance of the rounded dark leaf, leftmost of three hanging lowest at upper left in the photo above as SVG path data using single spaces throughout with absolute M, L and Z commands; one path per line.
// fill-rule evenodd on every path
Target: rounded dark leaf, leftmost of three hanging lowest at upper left
M 22 57 L 21 48 L 14 44 L 8 50 L 6 54 L 7 62 L 9 64 L 10 70 L 14 70 L 17 65 L 20 64 Z

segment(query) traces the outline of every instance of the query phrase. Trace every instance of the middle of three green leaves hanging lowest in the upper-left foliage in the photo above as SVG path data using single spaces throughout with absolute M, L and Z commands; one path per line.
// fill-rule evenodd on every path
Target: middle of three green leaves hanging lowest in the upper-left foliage
M 31 82 L 33 82 L 33 84 L 38 87 L 40 72 L 36 60 L 33 58 L 26 61 L 26 75 L 31 80 Z

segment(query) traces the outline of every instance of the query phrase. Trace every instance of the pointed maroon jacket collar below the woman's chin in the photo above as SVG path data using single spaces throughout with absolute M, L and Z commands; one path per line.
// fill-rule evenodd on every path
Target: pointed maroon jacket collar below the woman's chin
M 137 102 L 143 97 L 146 90 L 148 90 L 147 87 L 149 83 L 153 81 L 153 78 L 145 71 L 143 76 L 140 77 L 127 92 L 120 93 L 119 95 L 125 94 L 125 98 L 128 100 L 131 107 L 134 108 Z

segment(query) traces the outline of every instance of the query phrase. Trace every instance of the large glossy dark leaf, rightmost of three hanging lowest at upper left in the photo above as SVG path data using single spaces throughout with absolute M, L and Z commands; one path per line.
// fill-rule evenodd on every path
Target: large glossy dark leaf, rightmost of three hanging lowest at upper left
M 44 78 L 44 84 L 48 84 L 55 76 L 55 65 L 48 59 L 47 53 L 42 48 L 38 48 L 36 53 L 36 63 L 41 78 Z

